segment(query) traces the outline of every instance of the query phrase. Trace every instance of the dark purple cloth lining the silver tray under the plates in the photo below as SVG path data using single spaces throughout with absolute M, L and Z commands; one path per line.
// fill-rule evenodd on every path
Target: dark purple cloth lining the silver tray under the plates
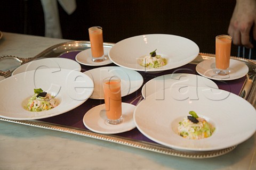
M 78 53 L 79 53 L 79 51 L 68 52 L 68 53 L 60 55 L 60 57 L 75 60 L 75 56 Z M 116 66 L 116 65 L 115 64 L 109 64 L 107 66 Z M 95 66 L 85 66 L 85 65 L 81 65 L 81 67 L 82 67 L 82 72 L 95 68 Z M 158 76 L 164 75 L 164 74 L 171 74 L 171 73 L 174 73 L 174 72 L 175 73 L 197 74 L 197 72 L 195 70 L 195 67 L 196 67 L 196 65 L 194 65 L 194 64 L 186 64 L 186 65 L 181 66 L 177 69 L 167 70 L 167 71 L 157 73 L 157 74 L 150 74 L 150 73 L 146 73 L 146 72 L 139 72 L 139 73 L 143 77 L 143 81 L 144 81 L 143 84 L 145 84 L 147 81 L 149 81 L 149 80 L 151 80 L 155 77 L 158 77 Z M 245 77 L 237 79 L 237 80 L 230 80 L 228 82 L 227 81 L 223 82 L 223 81 L 214 80 L 214 82 L 218 85 L 219 89 L 232 92 L 236 95 L 238 95 L 240 90 L 242 89 L 244 81 L 245 81 Z M 141 88 L 139 90 L 133 92 L 133 94 L 130 94 L 128 96 L 123 97 L 122 101 L 125 102 L 125 103 L 130 103 L 137 96 L 141 95 Z M 137 104 L 138 100 L 139 99 L 134 101 L 132 104 L 134 104 L 134 105 Z M 61 114 L 61 115 L 58 115 L 58 116 L 49 117 L 49 118 L 44 118 L 44 119 L 41 119 L 41 121 L 88 130 L 83 124 L 84 114 L 87 111 L 89 111 L 92 107 L 98 106 L 98 105 L 103 104 L 103 103 L 104 103 L 104 100 L 88 99 L 88 100 L 85 101 L 84 104 L 82 104 L 81 106 L 78 106 L 77 108 L 74 108 L 73 110 L 71 110 L 67 113 L 64 113 L 64 114 Z M 121 136 L 121 137 L 126 137 L 126 138 L 137 139 L 137 140 L 142 140 L 142 141 L 155 143 L 154 141 L 151 141 L 150 139 L 145 137 L 145 135 L 140 133 L 140 131 L 137 128 L 135 128 L 131 131 L 124 132 L 124 133 L 119 133 L 119 134 L 116 134 L 116 135 Z

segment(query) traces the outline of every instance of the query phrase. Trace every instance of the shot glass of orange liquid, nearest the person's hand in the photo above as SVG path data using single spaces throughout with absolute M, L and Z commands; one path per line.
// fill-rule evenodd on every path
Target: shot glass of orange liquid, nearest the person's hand
M 218 75 L 229 74 L 231 41 L 232 37 L 228 35 L 219 35 L 215 39 L 215 67 Z

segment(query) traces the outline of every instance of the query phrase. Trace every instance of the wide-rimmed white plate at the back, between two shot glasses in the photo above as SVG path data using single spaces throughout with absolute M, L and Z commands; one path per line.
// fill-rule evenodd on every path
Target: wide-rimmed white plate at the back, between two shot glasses
M 166 58 L 167 64 L 149 69 L 140 65 L 142 58 L 157 49 L 157 54 Z M 157 72 L 174 69 L 193 61 L 199 53 L 191 40 L 174 35 L 151 34 L 124 39 L 109 50 L 109 58 L 116 65 L 127 69 Z

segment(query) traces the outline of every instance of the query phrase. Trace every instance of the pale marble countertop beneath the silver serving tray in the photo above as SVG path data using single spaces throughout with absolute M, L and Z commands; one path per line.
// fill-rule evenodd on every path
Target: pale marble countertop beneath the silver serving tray
M 67 40 L 4 32 L 0 56 L 32 57 Z M 158 154 L 65 132 L 0 121 L 0 169 L 256 169 L 256 135 L 208 159 Z

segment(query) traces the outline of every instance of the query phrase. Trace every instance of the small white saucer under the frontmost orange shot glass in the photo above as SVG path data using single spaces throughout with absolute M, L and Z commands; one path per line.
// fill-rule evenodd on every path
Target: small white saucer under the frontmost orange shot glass
M 115 134 L 130 131 L 136 127 L 133 121 L 134 105 L 122 103 L 123 122 L 116 125 L 107 122 L 104 109 L 105 104 L 98 105 L 84 115 L 83 123 L 87 129 L 97 133 Z

